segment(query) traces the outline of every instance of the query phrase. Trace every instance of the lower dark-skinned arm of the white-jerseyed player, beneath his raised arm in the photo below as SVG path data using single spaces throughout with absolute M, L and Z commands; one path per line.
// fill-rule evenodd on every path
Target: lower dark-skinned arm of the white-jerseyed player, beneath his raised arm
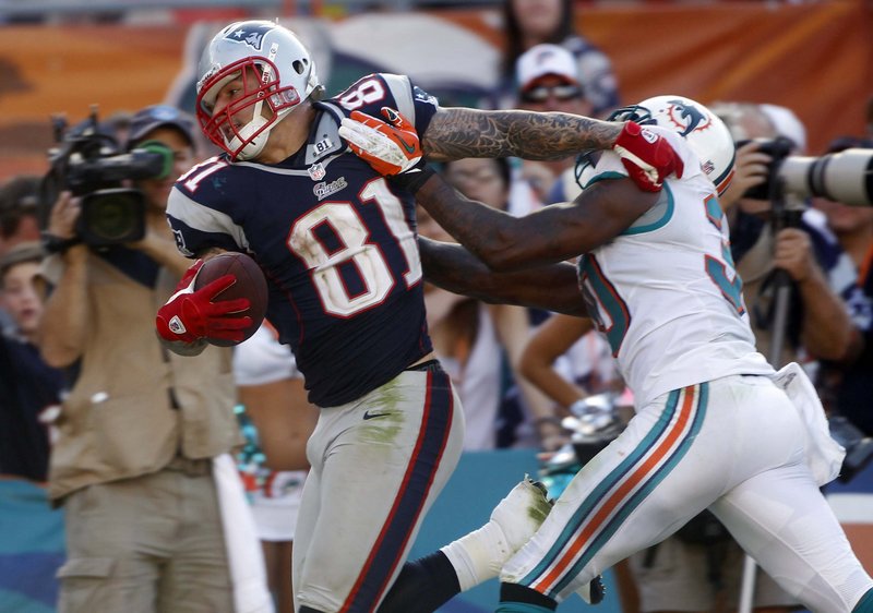
M 587 315 L 572 264 L 497 273 L 459 244 L 419 237 L 418 245 L 424 278 L 443 289 L 489 303 Z

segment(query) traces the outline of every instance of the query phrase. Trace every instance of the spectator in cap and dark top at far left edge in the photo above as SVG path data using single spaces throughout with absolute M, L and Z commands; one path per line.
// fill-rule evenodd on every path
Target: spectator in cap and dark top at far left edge
M 20 243 L 0 256 L 0 305 L 14 323 L 0 335 L 0 474 L 37 482 L 47 478 L 47 423 L 63 388 L 61 372 L 43 361 L 35 344 L 43 316 L 35 284 L 41 261 L 38 242 Z

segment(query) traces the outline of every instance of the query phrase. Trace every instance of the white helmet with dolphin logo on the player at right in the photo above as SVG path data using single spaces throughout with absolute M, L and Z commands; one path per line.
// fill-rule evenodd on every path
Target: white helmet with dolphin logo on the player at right
M 655 96 L 638 105 L 614 111 L 611 121 L 635 121 L 641 125 L 659 125 L 683 136 L 701 160 L 701 167 L 725 193 L 733 179 L 737 158 L 733 137 L 725 122 L 701 103 L 684 96 Z

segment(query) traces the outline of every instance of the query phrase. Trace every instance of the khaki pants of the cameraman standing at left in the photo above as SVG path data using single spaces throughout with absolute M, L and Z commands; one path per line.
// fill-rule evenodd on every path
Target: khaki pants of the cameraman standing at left
M 215 483 L 207 460 L 194 468 L 67 498 L 61 613 L 234 612 Z

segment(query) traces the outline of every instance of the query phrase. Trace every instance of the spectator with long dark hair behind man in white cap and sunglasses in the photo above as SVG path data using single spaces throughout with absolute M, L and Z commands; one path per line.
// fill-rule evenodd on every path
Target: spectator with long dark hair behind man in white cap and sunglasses
M 506 99 L 518 88 L 515 62 L 541 43 L 561 45 L 573 53 L 594 117 L 606 117 L 620 105 L 619 86 L 609 58 L 575 29 L 573 0 L 504 0 L 502 89 Z

